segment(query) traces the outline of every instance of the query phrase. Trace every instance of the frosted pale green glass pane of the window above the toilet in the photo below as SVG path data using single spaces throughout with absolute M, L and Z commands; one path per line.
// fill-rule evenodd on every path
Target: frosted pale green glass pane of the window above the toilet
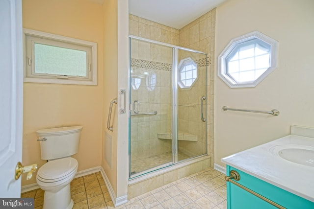
M 35 73 L 87 76 L 86 51 L 35 43 L 34 53 Z

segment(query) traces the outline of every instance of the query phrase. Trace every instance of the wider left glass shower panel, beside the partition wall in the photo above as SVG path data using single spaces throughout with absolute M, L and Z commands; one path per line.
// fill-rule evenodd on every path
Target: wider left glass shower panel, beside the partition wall
M 130 177 L 172 164 L 172 47 L 130 39 Z

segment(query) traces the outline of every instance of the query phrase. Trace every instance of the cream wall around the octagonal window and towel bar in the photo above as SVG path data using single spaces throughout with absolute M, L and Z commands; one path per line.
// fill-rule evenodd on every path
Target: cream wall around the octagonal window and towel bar
M 313 11 L 313 0 L 229 0 L 217 8 L 215 61 L 231 39 L 255 30 L 279 42 L 279 56 L 278 68 L 255 88 L 231 89 L 215 69 L 215 163 L 288 135 L 291 124 L 314 127 Z M 223 106 L 278 109 L 280 116 Z

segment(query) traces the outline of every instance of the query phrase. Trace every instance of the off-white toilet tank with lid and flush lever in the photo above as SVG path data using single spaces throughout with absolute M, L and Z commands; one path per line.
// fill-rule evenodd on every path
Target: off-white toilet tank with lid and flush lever
M 40 139 L 41 159 L 53 160 L 76 154 L 82 128 L 71 126 L 36 131 Z

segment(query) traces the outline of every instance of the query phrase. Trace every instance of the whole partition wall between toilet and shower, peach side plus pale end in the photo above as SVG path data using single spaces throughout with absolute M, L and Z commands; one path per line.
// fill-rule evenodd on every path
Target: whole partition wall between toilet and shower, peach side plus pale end
M 102 167 L 110 182 L 109 190 L 114 204 L 127 200 L 128 192 L 128 112 L 124 108 L 121 89 L 128 89 L 128 0 L 104 0 L 104 103 L 103 103 L 103 154 Z M 113 105 L 111 123 L 113 131 L 106 128 L 111 100 Z M 129 98 L 128 92 L 126 98 Z M 118 132 L 119 128 L 119 132 Z M 106 137 L 109 136 L 109 137 Z M 108 141 L 111 141 L 111 146 Z M 105 152 L 111 151 L 111 159 L 105 159 Z M 107 162 L 109 161 L 109 162 Z M 111 161 L 111 167 L 110 167 Z M 113 191 L 112 191 L 113 190 Z

